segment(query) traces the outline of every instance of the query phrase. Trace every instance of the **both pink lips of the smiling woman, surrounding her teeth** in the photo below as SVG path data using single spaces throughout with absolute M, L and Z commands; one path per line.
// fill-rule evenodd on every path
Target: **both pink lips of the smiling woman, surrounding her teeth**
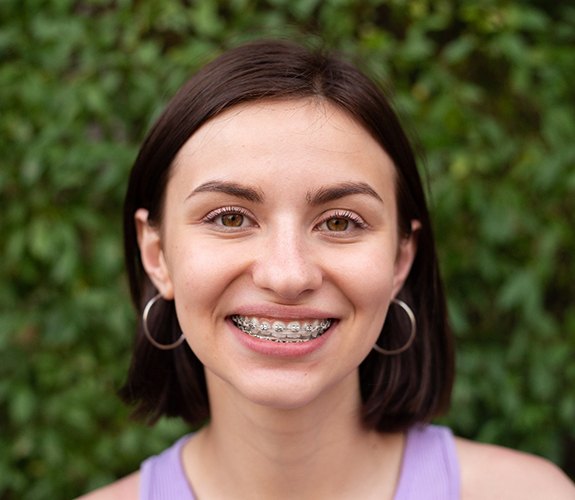
M 283 319 L 326 319 L 332 318 L 332 324 L 328 330 L 314 339 L 306 342 L 274 342 L 271 340 L 261 339 L 246 334 L 240 330 L 232 321 L 231 317 L 235 314 L 241 316 L 254 316 L 254 317 L 271 317 Z M 249 351 L 271 357 L 280 358 L 298 358 L 309 356 L 312 353 L 320 350 L 325 343 L 329 340 L 332 333 L 337 329 L 339 321 L 333 316 L 330 316 L 324 311 L 310 308 L 285 308 L 277 306 L 258 306 L 258 307 L 242 307 L 234 311 L 232 315 L 226 318 L 226 323 L 237 341 Z

